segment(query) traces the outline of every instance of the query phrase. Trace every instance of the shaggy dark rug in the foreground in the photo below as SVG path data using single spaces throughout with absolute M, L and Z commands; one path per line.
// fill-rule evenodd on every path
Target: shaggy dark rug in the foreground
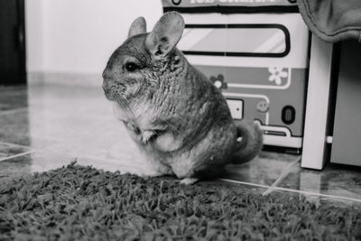
M 361 210 L 71 163 L 1 181 L 0 240 L 361 240 Z

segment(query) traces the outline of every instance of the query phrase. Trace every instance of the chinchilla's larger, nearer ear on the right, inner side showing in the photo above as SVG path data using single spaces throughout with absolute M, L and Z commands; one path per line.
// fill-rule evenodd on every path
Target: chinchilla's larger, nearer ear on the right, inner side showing
M 183 29 L 184 20 L 180 14 L 176 12 L 163 14 L 145 39 L 147 50 L 155 59 L 161 59 L 180 41 Z

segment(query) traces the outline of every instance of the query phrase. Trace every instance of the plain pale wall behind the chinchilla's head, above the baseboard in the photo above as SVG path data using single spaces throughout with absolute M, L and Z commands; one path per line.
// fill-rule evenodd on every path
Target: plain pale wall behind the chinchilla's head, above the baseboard
M 28 72 L 98 74 L 143 15 L 148 31 L 161 0 L 31 0 L 26 2 Z

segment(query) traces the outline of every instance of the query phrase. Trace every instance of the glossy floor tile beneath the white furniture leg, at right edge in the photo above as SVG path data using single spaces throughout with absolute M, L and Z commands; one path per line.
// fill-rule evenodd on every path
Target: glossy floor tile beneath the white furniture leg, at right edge
M 322 171 L 294 166 L 278 187 L 361 200 L 361 169 L 327 164 Z

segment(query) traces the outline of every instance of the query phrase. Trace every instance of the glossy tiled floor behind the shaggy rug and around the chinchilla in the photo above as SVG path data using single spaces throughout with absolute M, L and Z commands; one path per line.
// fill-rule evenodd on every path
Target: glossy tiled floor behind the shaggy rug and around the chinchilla
M 152 169 L 100 87 L 41 82 L 0 87 L 0 182 L 74 160 L 109 171 L 146 174 Z M 361 168 L 329 164 L 323 171 L 310 171 L 300 164 L 301 155 L 263 152 L 252 162 L 228 166 L 221 183 L 235 182 L 264 195 L 287 191 L 321 202 L 361 205 Z

